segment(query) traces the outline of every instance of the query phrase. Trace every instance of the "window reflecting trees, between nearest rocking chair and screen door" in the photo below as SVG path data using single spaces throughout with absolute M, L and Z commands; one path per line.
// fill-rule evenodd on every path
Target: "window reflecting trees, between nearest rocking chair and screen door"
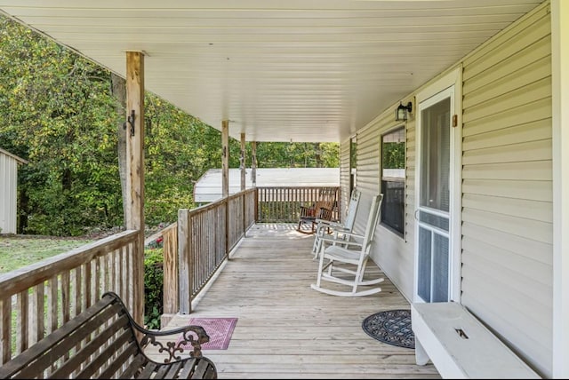
M 381 224 L 405 235 L 405 128 L 381 136 Z

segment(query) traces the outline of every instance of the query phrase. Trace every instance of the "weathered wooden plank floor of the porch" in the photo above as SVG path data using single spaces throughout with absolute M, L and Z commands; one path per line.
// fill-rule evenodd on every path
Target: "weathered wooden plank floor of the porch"
M 310 289 L 313 235 L 294 225 L 256 225 L 247 233 L 190 317 L 236 317 L 227 350 L 204 350 L 220 378 L 440 378 L 415 365 L 414 350 L 383 344 L 362 329 L 365 317 L 410 306 L 389 279 L 379 294 L 334 297 Z M 373 263 L 367 273 L 378 273 Z

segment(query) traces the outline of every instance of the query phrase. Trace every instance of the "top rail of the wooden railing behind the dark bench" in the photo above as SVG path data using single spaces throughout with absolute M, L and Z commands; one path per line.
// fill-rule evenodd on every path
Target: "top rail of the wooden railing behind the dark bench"
M 134 240 L 138 234 L 138 230 L 126 230 L 59 255 L 45 258 L 37 263 L 23 266 L 10 273 L 0 274 L 0 289 L 2 289 L 0 297 L 10 297 L 52 278 L 57 273 L 76 268 L 91 261 L 94 257 L 118 249 L 124 246 L 126 242 Z

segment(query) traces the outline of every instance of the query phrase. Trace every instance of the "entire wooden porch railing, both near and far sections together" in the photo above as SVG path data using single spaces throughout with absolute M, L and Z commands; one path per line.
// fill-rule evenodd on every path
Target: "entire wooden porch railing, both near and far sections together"
M 164 314 L 190 313 L 204 288 L 255 219 L 296 222 L 318 187 L 260 187 L 194 210 L 164 238 Z M 279 204 L 280 203 L 280 204 Z M 288 215 L 286 216 L 286 214 Z M 0 275 L 0 364 L 26 350 L 94 304 L 105 291 L 124 299 L 142 324 L 143 247 L 139 231 L 124 231 Z

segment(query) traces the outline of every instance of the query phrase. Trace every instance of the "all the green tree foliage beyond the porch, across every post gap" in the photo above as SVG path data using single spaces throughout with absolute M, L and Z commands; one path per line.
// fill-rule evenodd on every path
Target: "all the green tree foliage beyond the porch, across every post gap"
M 20 234 L 78 236 L 123 226 L 110 73 L 0 15 L 0 144 L 19 169 Z M 221 166 L 221 134 L 164 99 L 145 99 L 145 218 L 170 224 L 192 208 L 194 183 Z M 331 143 L 257 145 L 259 167 L 338 167 Z M 229 140 L 239 167 L 240 142 Z M 246 162 L 251 166 L 251 144 Z

